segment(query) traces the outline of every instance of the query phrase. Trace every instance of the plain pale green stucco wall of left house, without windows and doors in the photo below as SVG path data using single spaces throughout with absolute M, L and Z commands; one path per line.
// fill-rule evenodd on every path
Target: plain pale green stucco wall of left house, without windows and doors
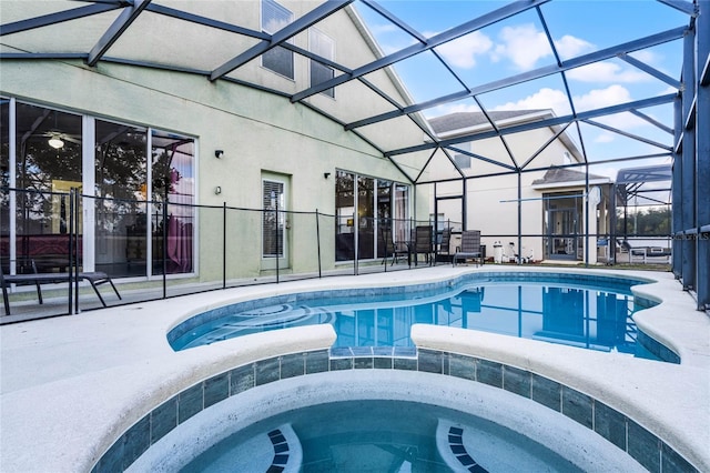
M 11 20 L 12 17 L 21 18 L 18 9 L 21 11 L 20 4 L 23 6 L 27 2 L 8 3 L 14 7 L 14 10 L 9 10 L 6 17 L 3 1 L 3 22 Z M 199 14 L 204 8 L 220 8 L 224 10 L 225 21 L 230 21 L 233 16 L 239 16 L 241 24 L 244 18 L 248 17 L 251 20 L 247 27 L 261 30 L 258 1 L 175 3 L 180 8 Z M 302 1 L 281 3 L 291 9 L 296 17 L 317 4 Z M 73 34 L 73 38 L 59 36 L 58 41 L 82 43 L 82 36 L 91 36 L 94 30 L 102 31 L 102 28 L 108 28 L 110 22 L 104 24 L 103 21 L 99 21 L 92 24 L 84 21 L 82 24 L 85 24 L 89 30 L 82 32 L 77 29 L 63 29 L 65 34 L 69 37 Z M 221 60 L 232 59 L 234 49 L 231 48 L 230 42 L 224 42 L 226 33 L 201 29 L 201 33 L 212 31 L 211 34 L 214 34 L 214 49 L 201 51 L 196 50 L 194 44 L 186 41 L 182 34 L 179 33 L 175 37 L 173 32 L 166 32 L 164 30 L 166 24 L 161 16 L 146 14 L 145 20 L 141 18 L 135 24 L 135 28 L 145 29 L 145 36 L 128 36 L 131 40 L 140 39 L 142 47 L 132 53 L 130 44 L 121 43 L 116 48 L 128 56 L 136 56 L 136 59 L 148 59 L 141 56 L 150 52 L 152 61 L 159 60 L 163 50 L 170 57 L 166 62 L 179 60 L 181 54 L 184 54 L 185 66 L 195 68 L 203 63 L 207 70 L 215 63 L 221 63 Z M 163 28 L 162 31 L 161 28 Z M 352 14 L 347 11 L 336 12 L 323 26 L 318 26 L 318 29 L 335 40 L 336 60 L 348 59 L 353 64 L 362 64 L 376 59 L 376 52 L 365 39 L 355 40 L 357 28 Z M 175 50 L 173 44 L 168 43 L 168 38 L 175 39 L 178 42 L 184 41 L 184 43 Z M 156 42 L 151 42 L 152 39 Z M 8 37 L 6 42 L 11 44 L 13 38 Z M 18 47 L 28 46 L 23 43 L 22 36 L 16 41 Z M 294 42 L 307 49 L 307 31 L 298 34 Z M 145 48 L 145 44 L 151 47 Z M 4 50 L 9 48 L 6 47 Z M 215 61 L 215 57 L 220 60 Z M 245 64 L 243 69 L 231 73 L 230 77 L 243 78 L 278 89 L 284 89 L 286 85 L 286 90 L 295 92 L 308 87 L 308 62 L 298 56 L 295 56 L 295 81 L 264 69 L 258 59 Z M 392 93 L 400 103 L 407 102 L 408 99 L 402 94 L 399 84 L 393 82 L 389 73 L 382 70 L 371 76 L 368 79 L 387 93 Z M 261 209 L 261 184 L 264 172 L 288 179 L 291 185 L 288 210 L 315 211 L 317 209 L 331 215 L 335 207 L 336 169 L 397 182 L 409 182 L 406 175 L 367 142 L 355 133 L 345 132 L 342 125 L 307 107 L 291 103 L 288 98 L 235 83 L 220 80 L 211 82 L 204 76 L 105 62 L 90 68 L 82 61 L 71 60 L 7 60 L 2 62 L 0 88 L 0 93 L 3 95 L 30 103 L 195 137 L 197 144 L 196 202 L 202 205 L 222 207 L 223 202 L 226 202 L 231 207 Z M 373 113 L 373 108 L 364 97 L 368 95 L 351 94 L 347 88 L 342 88 L 337 89 L 335 99 L 315 95 L 307 100 L 334 115 L 346 114 L 345 111 L 347 111 L 353 115 L 365 117 Z M 379 131 L 383 135 L 412 132 L 408 128 L 396 129 L 396 125 L 394 129 L 384 130 L 385 128 L 382 127 L 383 130 Z M 420 131 L 417 131 L 414 137 L 420 135 Z M 222 159 L 214 158 L 214 150 L 217 149 L 224 150 Z M 324 178 L 325 172 L 331 173 L 329 179 Z M 415 171 L 412 173 L 415 174 Z M 214 188 L 217 185 L 221 187 L 222 193 L 215 195 Z M 410 199 L 414 201 L 414 189 Z M 417 199 L 417 202 L 420 205 L 428 204 L 426 194 Z M 216 213 L 217 211 L 201 212 L 196 235 L 199 271 L 200 275 L 206 279 L 214 279 L 221 274 L 222 270 L 221 251 L 215 251 L 216 248 L 221 250 L 222 246 L 221 231 L 214 231 L 217 223 L 221 225 L 221 213 L 219 217 Z M 327 220 L 327 222 L 331 221 Z M 323 243 L 321 255 L 324 269 L 327 269 L 334 265 L 335 260 L 334 230 L 329 224 L 323 228 L 324 221 L 321 223 Z M 292 224 L 288 239 L 293 271 L 316 271 L 317 248 L 314 244 L 315 229 L 312 227 L 314 222 L 306 224 L 304 218 L 290 224 Z M 230 230 L 230 238 L 234 242 L 246 241 L 250 244 L 232 245 L 227 254 L 227 268 L 239 266 L 240 275 L 258 275 L 262 261 L 254 249 L 260 248 L 261 227 L 242 225 Z

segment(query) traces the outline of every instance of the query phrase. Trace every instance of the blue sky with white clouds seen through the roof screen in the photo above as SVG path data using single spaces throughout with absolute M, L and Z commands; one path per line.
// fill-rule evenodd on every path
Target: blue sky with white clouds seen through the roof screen
M 379 1 L 381 6 L 426 38 L 507 3 L 480 0 Z M 385 54 L 417 42 L 365 4 L 357 3 L 357 9 Z M 686 13 L 655 0 L 552 0 L 541 4 L 540 11 L 562 61 L 689 23 Z M 469 88 L 556 64 L 535 9 L 445 43 L 435 51 Z M 672 79 L 680 78 L 682 40 L 630 56 Z M 463 90 L 462 84 L 432 52 L 399 62 L 395 69 L 415 103 Z M 569 70 L 566 79 L 578 112 L 677 92 L 671 84 L 618 58 Z M 559 117 L 571 112 L 567 97 L 562 76 L 557 73 L 481 94 L 478 99 L 486 110 L 552 109 Z M 467 99 L 427 109 L 424 114 L 433 118 L 478 110 L 478 104 Z M 673 125 L 672 104 L 641 111 L 666 127 Z M 666 147 L 672 145 L 670 133 L 628 112 L 598 121 Z M 581 139 L 576 130 L 570 130 L 571 135 L 578 145 L 584 143 L 590 161 L 666 152 L 598 127 L 582 124 L 580 130 Z M 645 161 L 643 164 L 660 162 L 670 163 L 670 158 Z M 632 161 L 621 167 L 636 165 L 641 164 Z M 613 177 L 618 167 L 616 163 L 611 167 L 600 164 L 596 172 Z

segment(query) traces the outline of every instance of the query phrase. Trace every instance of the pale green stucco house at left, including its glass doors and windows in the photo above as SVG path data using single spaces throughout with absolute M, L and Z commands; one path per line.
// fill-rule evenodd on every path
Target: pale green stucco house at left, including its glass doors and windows
M 53 13 L 50 3 L 3 1 L 2 21 Z M 314 6 L 261 0 L 189 8 L 191 14 L 275 33 Z M 2 48 L 87 51 L 113 20 L 97 14 L 37 34 L 9 34 Z M 51 251 L 52 238 L 64 244 L 69 205 L 63 193 L 71 188 L 84 195 L 78 220 L 83 268 L 114 276 L 160 275 L 163 252 L 169 273 L 206 280 L 221 279 L 223 266 L 226 278 L 268 273 L 276 263 L 293 272 L 315 271 L 318 255 L 328 269 L 354 256 L 343 235 L 358 241 L 361 259 L 375 261 L 382 254 L 377 218 L 413 218 L 413 202 L 428 214 L 425 190 L 415 199 L 406 165 L 393 165 L 382 152 L 422 142 L 418 129 L 413 135 L 410 128 L 390 123 L 367 130 L 364 139 L 329 117 L 353 121 L 381 108 L 377 100 L 384 100 L 376 94 L 358 93 L 365 87 L 359 81 L 292 103 L 291 94 L 339 71 L 278 47 L 211 81 L 197 72 L 227 63 L 235 50 L 256 40 L 154 13 L 142 14 L 130 28 L 131 36 L 110 50 L 130 61 L 2 60 L 0 174 L 3 185 L 18 190 L 2 200 L 2 256 Z M 288 43 L 347 67 L 382 57 L 352 7 Z M 180 64 L 184 71 L 174 70 Z M 412 103 L 390 68 L 367 74 L 367 81 L 399 103 Z M 229 209 L 223 219 L 224 204 L 274 213 Z M 313 215 L 274 218 L 277 211 L 316 210 L 331 215 L 321 222 L 320 249 Z

